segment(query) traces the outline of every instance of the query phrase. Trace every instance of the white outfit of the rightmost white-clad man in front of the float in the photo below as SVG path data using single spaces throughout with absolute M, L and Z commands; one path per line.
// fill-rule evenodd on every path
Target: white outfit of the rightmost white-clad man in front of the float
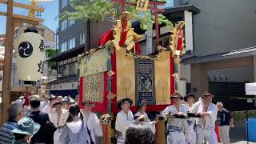
M 202 113 L 204 108 L 204 101 L 198 101 L 190 108 L 190 112 L 192 113 Z M 209 113 L 209 116 L 205 117 L 206 125 L 203 126 L 202 123 L 202 118 L 197 118 L 196 120 L 196 125 L 197 125 L 197 130 L 196 130 L 196 143 L 201 144 L 206 140 L 210 144 L 217 144 L 217 135 L 214 131 L 215 128 L 215 122 L 217 120 L 217 114 L 218 114 L 218 108 L 216 105 L 213 103 L 210 103 L 208 106 L 207 111 Z

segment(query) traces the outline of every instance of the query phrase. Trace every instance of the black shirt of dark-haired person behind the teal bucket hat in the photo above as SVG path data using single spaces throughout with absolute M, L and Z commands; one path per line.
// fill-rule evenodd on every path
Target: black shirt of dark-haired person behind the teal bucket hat
M 42 112 L 42 111 L 33 111 L 30 115 L 27 117 L 32 118 L 34 122 L 37 122 L 40 124 L 40 129 L 36 134 L 33 135 L 31 138 L 31 144 L 34 143 L 46 143 L 50 144 L 53 141 L 53 138 L 48 138 L 49 136 L 44 131 L 44 128 L 46 126 L 46 122 L 50 121 L 48 114 Z M 50 141 L 50 142 L 49 142 Z

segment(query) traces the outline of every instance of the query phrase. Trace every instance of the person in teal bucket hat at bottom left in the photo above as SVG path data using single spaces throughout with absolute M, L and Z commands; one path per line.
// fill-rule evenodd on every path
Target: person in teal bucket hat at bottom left
M 29 144 L 30 137 L 38 132 L 40 125 L 31 118 L 22 118 L 17 123 L 17 128 L 12 130 L 15 136 L 13 144 Z

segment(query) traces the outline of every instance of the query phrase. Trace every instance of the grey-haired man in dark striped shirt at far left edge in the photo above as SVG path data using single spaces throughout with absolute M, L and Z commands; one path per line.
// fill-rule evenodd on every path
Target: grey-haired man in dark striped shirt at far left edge
M 0 128 L 0 143 L 11 144 L 14 142 L 14 134 L 11 130 L 17 128 L 17 122 L 24 117 L 24 108 L 20 103 L 12 103 L 8 109 L 9 119 Z

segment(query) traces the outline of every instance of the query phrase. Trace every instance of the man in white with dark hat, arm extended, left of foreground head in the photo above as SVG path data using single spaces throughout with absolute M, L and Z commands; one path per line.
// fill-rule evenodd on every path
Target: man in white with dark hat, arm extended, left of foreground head
M 122 98 L 118 101 L 118 108 L 121 109 L 115 121 L 115 130 L 117 131 L 117 144 L 124 144 L 125 142 L 125 135 L 126 130 L 128 127 L 134 123 L 138 122 L 142 118 L 146 116 L 142 114 L 138 118 L 134 120 L 134 114 L 130 111 L 130 106 L 132 105 L 133 101 L 130 98 Z

